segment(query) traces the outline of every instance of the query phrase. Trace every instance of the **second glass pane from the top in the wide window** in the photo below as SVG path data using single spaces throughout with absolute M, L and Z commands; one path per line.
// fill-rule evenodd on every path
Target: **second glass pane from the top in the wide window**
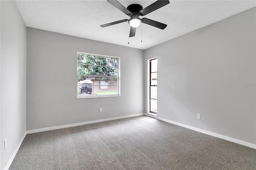
M 117 76 L 117 71 L 116 67 L 77 64 L 78 74 Z

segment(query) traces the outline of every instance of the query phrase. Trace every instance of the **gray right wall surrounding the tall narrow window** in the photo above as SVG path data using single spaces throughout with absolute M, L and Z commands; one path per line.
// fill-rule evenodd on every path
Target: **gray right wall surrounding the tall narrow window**
M 158 57 L 158 117 L 256 144 L 255 25 L 251 8 L 147 49 L 144 111 Z

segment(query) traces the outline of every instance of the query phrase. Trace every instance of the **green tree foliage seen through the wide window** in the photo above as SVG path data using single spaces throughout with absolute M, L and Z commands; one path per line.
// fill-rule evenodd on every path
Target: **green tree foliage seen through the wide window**
M 106 76 L 118 76 L 118 59 L 110 57 L 100 57 L 94 55 L 77 54 L 77 73 L 97 75 L 95 79 L 105 80 L 110 82 L 110 85 L 114 84 L 114 80 L 117 77 Z M 85 80 L 88 76 L 78 76 L 78 81 Z

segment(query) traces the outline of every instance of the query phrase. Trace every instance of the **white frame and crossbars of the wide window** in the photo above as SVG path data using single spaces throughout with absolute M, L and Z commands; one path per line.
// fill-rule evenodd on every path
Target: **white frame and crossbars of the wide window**
M 107 94 L 107 95 L 78 95 L 78 60 L 77 60 L 77 55 L 79 54 L 84 54 L 84 55 L 93 55 L 93 56 L 98 56 L 98 57 L 106 57 L 106 58 L 114 58 L 117 59 L 117 76 L 104 76 L 104 77 L 117 77 L 117 84 L 116 85 L 108 85 L 108 86 L 117 86 L 118 90 L 118 94 Z M 91 65 L 91 64 L 86 64 L 86 65 Z M 95 66 L 95 65 L 92 65 Z M 100 66 L 100 65 L 97 65 Z M 81 76 L 81 75 L 80 75 Z M 86 76 L 102 76 L 102 75 L 89 75 L 86 74 Z M 92 85 L 94 87 L 100 88 L 100 83 L 99 85 Z M 98 54 L 91 54 L 91 53 L 83 53 L 83 52 L 76 52 L 76 98 L 80 99 L 80 98 L 102 98 L 102 97 L 118 97 L 121 96 L 120 94 L 120 57 L 113 57 L 113 56 L 107 56 L 107 55 L 98 55 Z

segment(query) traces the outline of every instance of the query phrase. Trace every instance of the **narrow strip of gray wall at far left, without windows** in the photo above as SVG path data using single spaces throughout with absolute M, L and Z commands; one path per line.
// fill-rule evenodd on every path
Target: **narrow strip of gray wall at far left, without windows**
M 15 1 L 1 3 L 1 169 L 26 133 L 26 26 Z M 7 148 L 4 150 L 4 139 Z

